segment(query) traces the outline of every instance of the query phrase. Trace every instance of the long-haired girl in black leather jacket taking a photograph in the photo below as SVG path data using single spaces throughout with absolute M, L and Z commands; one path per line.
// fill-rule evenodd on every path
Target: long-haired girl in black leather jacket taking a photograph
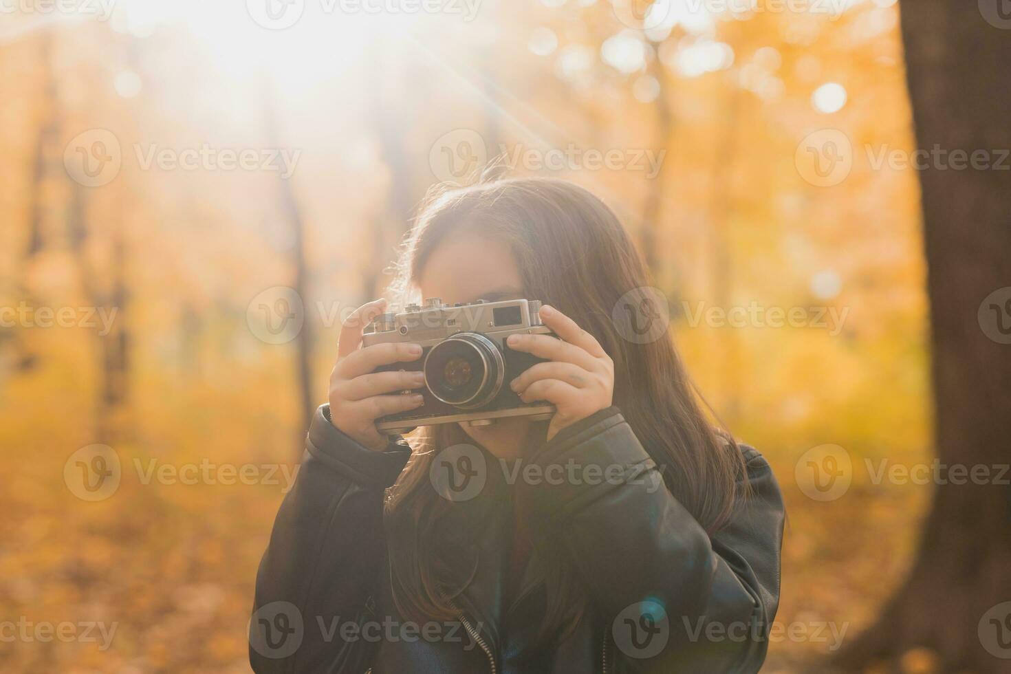
M 341 331 L 330 404 L 257 577 L 258 672 L 754 672 L 779 592 L 784 509 L 768 464 L 714 427 L 665 326 L 616 311 L 648 287 L 615 214 L 574 185 L 503 180 L 436 198 L 404 247 L 403 297 L 526 297 L 555 336 L 508 382 L 550 420 L 375 419 L 421 404 L 420 373 Z M 645 314 L 644 314 L 645 316 Z M 416 437 L 417 436 L 417 437 Z M 475 479 L 447 498 L 444 470 Z M 465 490 L 474 491 L 474 490 Z

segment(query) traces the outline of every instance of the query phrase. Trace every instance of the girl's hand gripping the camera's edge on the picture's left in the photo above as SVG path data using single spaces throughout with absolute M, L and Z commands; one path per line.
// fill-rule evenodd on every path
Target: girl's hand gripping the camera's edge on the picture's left
M 358 307 L 341 325 L 337 363 L 330 374 L 330 420 L 338 430 L 373 452 L 386 449 L 389 439 L 376 430 L 375 420 L 413 409 L 424 402 L 418 389 L 425 376 L 418 371 L 373 372 L 380 365 L 407 363 L 422 356 L 417 344 L 385 343 L 360 348 L 362 327 L 386 308 L 385 299 Z

